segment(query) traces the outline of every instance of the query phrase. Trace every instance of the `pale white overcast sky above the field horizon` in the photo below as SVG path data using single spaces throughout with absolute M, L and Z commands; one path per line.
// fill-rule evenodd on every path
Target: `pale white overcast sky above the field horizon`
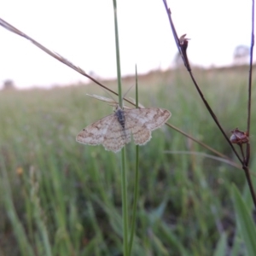
M 169 0 L 178 36 L 187 33 L 191 63 L 230 65 L 237 45 L 250 45 L 248 0 Z M 117 0 L 121 72 L 172 66 L 176 44 L 162 0 Z M 0 17 L 85 72 L 116 77 L 113 1 L 8 0 Z M 41 49 L 0 26 L 0 85 L 18 88 L 71 84 L 86 79 Z

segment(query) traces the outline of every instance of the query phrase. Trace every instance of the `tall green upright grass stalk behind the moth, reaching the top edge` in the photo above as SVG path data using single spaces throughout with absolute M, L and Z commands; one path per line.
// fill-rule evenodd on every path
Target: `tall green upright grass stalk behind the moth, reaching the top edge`
M 113 0 L 113 15 L 114 15 L 114 35 L 115 35 L 115 49 L 116 49 L 116 66 L 118 77 L 118 89 L 119 89 L 119 106 L 123 108 L 122 97 L 122 84 L 121 84 L 121 66 L 119 55 L 119 29 L 118 29 L 118 17 L 117 17 L 117 5 Z M 127 210 L 127 182 L 125 171 L 125 147 L 121 149 L 121 172 L 122 172 L 122 208 L 123 208 L 123 253 L 124 256 L 128 254 L 128 210 Z

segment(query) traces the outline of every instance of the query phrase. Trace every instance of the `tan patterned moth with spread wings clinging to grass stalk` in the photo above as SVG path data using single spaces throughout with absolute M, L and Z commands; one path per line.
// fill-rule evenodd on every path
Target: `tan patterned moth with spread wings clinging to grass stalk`
M 163 108 L 120 108 L 115 104 L 114 113 L 86 126 L 76 137 L 77 142 L 99 145 L 118 152 L 131 142 L 144 145 L 151 139 L 151 132 L 160 128 L 172 113 Z

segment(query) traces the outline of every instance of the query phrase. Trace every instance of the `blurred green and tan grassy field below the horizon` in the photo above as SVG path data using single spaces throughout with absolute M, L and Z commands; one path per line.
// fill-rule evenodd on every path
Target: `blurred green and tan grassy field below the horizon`
M 245 130 L 247 69 L 194 73 L 226 133 L 230 136 L 236 127 Z M 114 81 L 104 84 L 116 90 Z M 124 91 L 131 84 L 133 78 L 124 79 Z M 236 159 L 187 73 L 152 72 L 139 77 L 138 84 L 145 107 L 169 109 L 172 125 Z M 119 154 L 75 141 L 82 128 L 113 109 L 86 93 L 108 96 L 95 84 L 0 91 L 1 256 L 122 254 Z M 133 88 L 129 96 L 135 97 Z M 253 113 L 252 135 L 255 125 Z M 253 145 L 253 136 L 251 140 Z M 251 203 L 243 172 L 205 155 L 187 154 L 192 152 L 212 154 L 166 125 L 140 147 L 132 255 L 218 255 L 223 241 L 227 255 L 245 255 L 230 193 L 236 183 Z M 133 143 L 126 155 L 131 206 Z

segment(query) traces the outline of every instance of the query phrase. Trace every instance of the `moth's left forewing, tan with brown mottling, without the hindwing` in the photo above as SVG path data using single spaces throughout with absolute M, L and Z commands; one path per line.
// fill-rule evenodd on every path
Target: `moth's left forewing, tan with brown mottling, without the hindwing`
M 76 140 L 78 143 L 84 143 L 89 145 L 103 144 L 106 133 L 108 132 L 109 125 L 112 124 L 114 114 L 110 114 L 95 123 L 86 126 L 79 132 Z

